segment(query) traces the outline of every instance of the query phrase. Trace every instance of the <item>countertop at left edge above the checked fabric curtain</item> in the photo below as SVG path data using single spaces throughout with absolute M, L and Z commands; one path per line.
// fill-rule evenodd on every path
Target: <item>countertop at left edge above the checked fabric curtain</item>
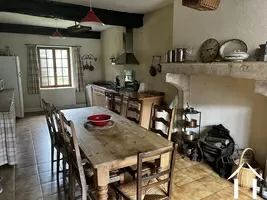
M 14 91 L 14 89 L 6 89 L 0 92 L 0 112 L 10 112 Z

